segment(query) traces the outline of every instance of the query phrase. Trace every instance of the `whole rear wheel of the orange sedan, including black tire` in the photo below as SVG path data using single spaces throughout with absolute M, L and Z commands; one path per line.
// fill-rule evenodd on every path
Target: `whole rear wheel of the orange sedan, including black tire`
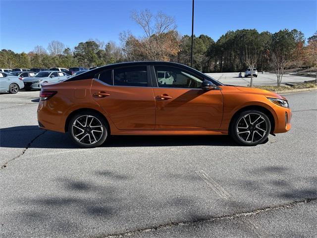
M 108 131 L 106 119 L 90 111 L 73 115 L 68 124 L 70 138 L 83 148 L 95 148 L 102 145 L 109 136 Z

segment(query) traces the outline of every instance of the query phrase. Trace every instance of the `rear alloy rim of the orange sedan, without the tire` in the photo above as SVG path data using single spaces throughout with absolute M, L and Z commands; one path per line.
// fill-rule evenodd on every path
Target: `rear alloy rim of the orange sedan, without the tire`
M 78 143 L 93 145 L 107 132 L 98 118 L 92 115 L 82 115 L 73 120 L 71 133 Z

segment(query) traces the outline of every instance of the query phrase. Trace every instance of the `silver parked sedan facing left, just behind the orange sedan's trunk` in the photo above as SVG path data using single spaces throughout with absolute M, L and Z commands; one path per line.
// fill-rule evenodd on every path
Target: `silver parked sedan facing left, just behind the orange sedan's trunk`
M 41 89 L 44 83 L 55 83 L 65 80 L 69 77 L 68 74 L 60 71 L 41 71 L 34 77 L 24 78 L 24 89 L 30 91 L 31 89 Z

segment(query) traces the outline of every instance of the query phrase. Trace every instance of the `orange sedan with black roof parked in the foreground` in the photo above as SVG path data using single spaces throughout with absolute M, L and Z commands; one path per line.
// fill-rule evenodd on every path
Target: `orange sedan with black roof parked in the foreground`
M 225 135 L 241 145 L 263 143 L 291 128 L 287 100 L 278 94 L 224 85 L 172 62 L 110 64 L 45 84 L 40 128 L 68 132 L 81 147 L 111 135 Z

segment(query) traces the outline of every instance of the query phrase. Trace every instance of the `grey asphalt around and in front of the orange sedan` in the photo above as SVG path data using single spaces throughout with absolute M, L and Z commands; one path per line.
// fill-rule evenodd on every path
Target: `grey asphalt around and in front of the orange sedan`
M 255 147 L 116 136 L 79 149 L 38 128 L 38 96 L 0 94 L 0 237 L 317 237 L 317 91 L 284 95 L 291 131 Z

